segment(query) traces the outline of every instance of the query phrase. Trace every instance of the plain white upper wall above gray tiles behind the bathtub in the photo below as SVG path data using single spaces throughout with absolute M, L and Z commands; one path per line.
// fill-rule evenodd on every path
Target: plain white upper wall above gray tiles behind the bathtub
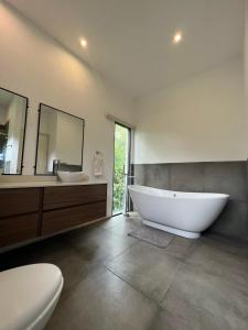
M 247 158 L 241 56 L 136 107 L 137 164 Z

